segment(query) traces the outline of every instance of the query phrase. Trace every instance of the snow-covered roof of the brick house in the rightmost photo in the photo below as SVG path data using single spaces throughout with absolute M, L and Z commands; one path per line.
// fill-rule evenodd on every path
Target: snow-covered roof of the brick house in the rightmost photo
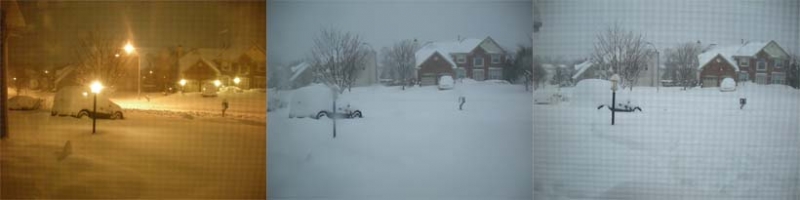
M 724 61 L 730 63 L 736 71 L 739 71 L 739 63 L 736 62 L 736 57 L 756 56 L 758 52 L 761 52 L 762 49 L 768 47 L 770 44 L 777 46 L 774 41 L 747 42 L 745 44 L 714 46 L 700 55 L 697 55 L 697 61 L 700 64 L 697 68 L 702 70 L 703 67 L 714 60 L 714 58 L 720 56 L 724 59 Z

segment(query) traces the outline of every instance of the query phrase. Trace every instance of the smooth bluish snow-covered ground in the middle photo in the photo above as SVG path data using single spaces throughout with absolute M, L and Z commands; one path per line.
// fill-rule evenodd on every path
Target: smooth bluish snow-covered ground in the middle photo
M 336 138 L 330 119 L 269 113 L 270 199 L 531 199 L 533 106 L 523 86 L 374 86 L 342 98 L 364 118 L 337 120 Z

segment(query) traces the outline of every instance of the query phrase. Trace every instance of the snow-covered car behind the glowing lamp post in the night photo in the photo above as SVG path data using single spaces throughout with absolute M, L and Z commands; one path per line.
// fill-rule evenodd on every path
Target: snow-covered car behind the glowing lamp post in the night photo
M 122 107 L 108 99 L 105 93 L 97 95 L 97 113 L 94 110 L 94 94 L 88 87 L 68 86 L 61 88 L 53 97 L 51 116 L 89 116 L 108 119 L 123 119 Z

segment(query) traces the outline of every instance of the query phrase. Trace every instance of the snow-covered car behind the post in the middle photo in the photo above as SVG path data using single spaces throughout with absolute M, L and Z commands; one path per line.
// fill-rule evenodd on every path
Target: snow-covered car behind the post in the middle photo
M 346 100 L 337 101 L 337 110 L 333 112 L 334 92 L 326 85 L 312 84 L 292 92 L 289 103 L 289 118 L 362 118 L 358 110 Z

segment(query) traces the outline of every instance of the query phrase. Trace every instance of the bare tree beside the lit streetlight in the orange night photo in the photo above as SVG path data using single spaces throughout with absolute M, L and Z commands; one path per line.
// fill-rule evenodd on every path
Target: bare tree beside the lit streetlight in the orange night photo
M 106 87 L 115 87 L 126 76 L 124 67 L 134 60 L 132 56 L 124 55 L 124 44 L 122 38 L 98 35 L 94 31 L 81 38 L 78 48 L 75 48 L 76 82 L 88 85 L 97 80 Z

